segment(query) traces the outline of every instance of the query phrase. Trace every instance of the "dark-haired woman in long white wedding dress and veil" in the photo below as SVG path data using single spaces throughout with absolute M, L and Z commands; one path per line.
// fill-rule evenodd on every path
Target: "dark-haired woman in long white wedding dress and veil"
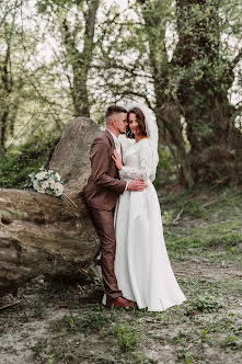
M 169 261 L 160 205 L 152 184 L 159 161 L 158 128 L 146 106 L 129 109 L 127 121 L 127 136 L 135 143 L 124 151 L 123 161 L 116 150 L 113 159 L 122 180 L 145 181 L 147 189 L 126 190 L 116 205 L 115 274 L 125 298 L 136 302 L 140 309 L 163 311 L 186 298 Z

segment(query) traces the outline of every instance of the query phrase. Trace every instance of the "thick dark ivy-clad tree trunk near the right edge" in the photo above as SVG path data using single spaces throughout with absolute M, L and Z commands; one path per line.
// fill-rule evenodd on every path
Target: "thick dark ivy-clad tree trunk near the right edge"
M 172 64 L 186 70 L 177 99 L 186 121 L 193 179 L 239 182 L 242 135 L 234 127 L 235 109 L 228 99 L 233 69 L 228 70 L 229 61 L 219 49 L 219 4 L 207 0 L 176 0 L 176 4 L 178 43 Z

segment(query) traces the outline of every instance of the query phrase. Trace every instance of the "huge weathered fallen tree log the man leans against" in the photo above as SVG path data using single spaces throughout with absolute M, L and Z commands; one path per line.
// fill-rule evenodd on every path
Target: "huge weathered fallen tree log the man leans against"
M 67 197 L 0 190 L 0 295 L 39 274 L 83 277 L 83 269 L 92 265 L 100 242 L 82 190 L 90 174 L 90 145 L 99 133 L 89 118 L 70 121 L 48 162 L 78 207 Z

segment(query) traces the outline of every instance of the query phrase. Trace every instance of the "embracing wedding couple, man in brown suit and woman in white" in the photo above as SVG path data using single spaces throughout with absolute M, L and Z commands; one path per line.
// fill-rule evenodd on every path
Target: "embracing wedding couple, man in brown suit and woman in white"
M 91 146 L 84 200 L 101 239 L 107 307 L 163 311 L 186 298 L 172 271 L 152 181 L 158 127 L 149 109 L 107 109 L 106 129 Z M 130 143 L 118 136 L 126 135 Z M 127 148 L 127 145 L 129 147 Z

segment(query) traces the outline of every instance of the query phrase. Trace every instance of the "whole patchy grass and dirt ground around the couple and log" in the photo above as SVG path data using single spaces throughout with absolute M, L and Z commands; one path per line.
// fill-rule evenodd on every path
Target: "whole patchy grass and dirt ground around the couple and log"
M 14 355 L 13 345 L 4 346 L 4 340 L 16 333 L 33 353 L 30 363 L 239 364 L 241 202 L 235 189 L 161 197 L 169 255 L 187 297 L 183 305 L 164 312 L 80 307 L 77 286 L 30 285 L 20 306 L 0 311 L 0 362 L 2 357 L 8 362 L 10 352 Z

